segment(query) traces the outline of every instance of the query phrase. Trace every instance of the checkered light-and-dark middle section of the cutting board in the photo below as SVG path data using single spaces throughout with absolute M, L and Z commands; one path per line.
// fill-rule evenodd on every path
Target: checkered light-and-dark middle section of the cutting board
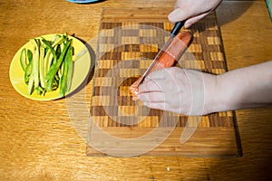
M 92 119 L 101 127 L 156 127 L 162 118 L 184 127 L 188 117 L 150 110 L 131 100 L 129 87 L 146 71 L 168 38 L 169 22 L 101 24 L 92 96 Z M 226 71 L 219 26 L 211 14 L 192 27 L 193 42 L 177 66 L 219 74 Z M 161 116 L 163 115 L 163 117 Z M 172 120 L 172 121 L 171 121 Z M 231 111 L 200 120 L 200 127 L 233 127 Z M 189 124 L 194 126 L 193 123 Z M 160 125 L 161 126 L 161 125 Z M 168 126 L 168 125 L 163 125 Z

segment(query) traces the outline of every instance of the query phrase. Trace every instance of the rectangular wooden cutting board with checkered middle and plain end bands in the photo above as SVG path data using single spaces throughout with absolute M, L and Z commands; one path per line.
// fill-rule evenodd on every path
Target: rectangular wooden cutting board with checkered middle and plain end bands
M 131 100 L 129 87 L 148 68 L 173 27 L 165 8 L 104 8 L 93 77 L 88 156 L 241 155 L 235 112 L 188 117 Z M 216 14 L 191 27 L 193 42 L 177 66 L 227 71 Z M 186 133 L 190 133 L 188 138 Z M 192 134 L 193 133 L 193 134 Z

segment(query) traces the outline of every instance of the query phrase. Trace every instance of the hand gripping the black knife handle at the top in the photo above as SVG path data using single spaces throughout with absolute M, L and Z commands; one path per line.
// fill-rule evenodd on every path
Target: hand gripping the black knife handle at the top
M 186 20 L 184 27 L 189 28 L 215 10 L 221 2 L 222 0 L 177 0 L 175 9 L 168 18 L 171 23 Z

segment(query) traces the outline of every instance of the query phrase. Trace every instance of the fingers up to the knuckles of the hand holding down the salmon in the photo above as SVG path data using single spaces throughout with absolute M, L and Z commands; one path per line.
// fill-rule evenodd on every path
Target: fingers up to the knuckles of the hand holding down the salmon
M 182 75 L 183 70 L 177 67 L 151 72 L 139 86 L 137 99 L 151 109 L 179 111 Z

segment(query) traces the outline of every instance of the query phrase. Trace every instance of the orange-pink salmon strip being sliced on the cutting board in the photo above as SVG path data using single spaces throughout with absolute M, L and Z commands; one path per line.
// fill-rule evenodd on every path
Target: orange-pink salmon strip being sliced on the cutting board
M 152 71 L 157 71 L 174 65 L 175 62 L 179 60 L 181 54 L 189 46 L 191 37 L 191 33 L 187 31 L 182 31 L 178 33 L 176 37 L 171 40 L 170 45 L 166 48 L 166 50 L 160 55 L 158 61 L 153 66 L 150 73 Z M 141 77 L 137 81 L 135 81 L 130 87 L 130 91 L 132 93 L 132 100 L 138 100 L 137 94 L 139 93 L 139 90 L 137 88 L 137 85 L 139 81 L 141 81 Z

